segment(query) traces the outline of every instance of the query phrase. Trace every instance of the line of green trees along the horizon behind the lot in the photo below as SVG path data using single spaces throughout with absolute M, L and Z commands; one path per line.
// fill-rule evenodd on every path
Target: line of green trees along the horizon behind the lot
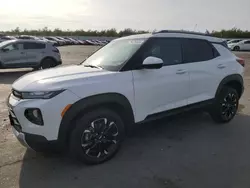
M 107 29 L 107 30 L 61 30 L 56 28 L 54 30 L 49 29 L 48 27 L 44 27 L 43 29 L 31 29 L 31 30 L 21 30 L 19 27 L 10 30 L 4 31 L 0 33 L 4 33 L 7 35 L 34 35 L 34 36 L 98 36 L 98 37 L 122 37 L 128 36 L 132 34 L 142 34 L 149 33 L 152 31 L 144 31 L 144 30 L 133 30 L 130 28 L 126 28 L 121 31 L 117 31 L 115 28 Z M 212 36 L 221 37 L 221 38 L 250 38 L 250 31 L 241 30 L 238 28 L 232 28 L 229 30 L 221 30 L 221 31 L 206 31 L 207 34 L 211 34 Z

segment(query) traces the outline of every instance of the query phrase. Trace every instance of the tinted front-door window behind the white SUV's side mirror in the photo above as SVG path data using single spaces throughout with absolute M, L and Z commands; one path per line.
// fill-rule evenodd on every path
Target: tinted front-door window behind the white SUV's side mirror
M 142 59 L 144 60 L 148 56 L 161 58 L 163 65 L 182 63 L 181 41 L 172 38 L 154 38 L 149 42 Z

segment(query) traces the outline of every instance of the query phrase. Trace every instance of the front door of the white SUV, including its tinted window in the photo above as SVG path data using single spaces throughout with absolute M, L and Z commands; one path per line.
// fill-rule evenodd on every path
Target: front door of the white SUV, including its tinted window
M 161 58 L 160 69 L 133 70 L 137 120 L 148 115 L 187 105 L 189 70 L 182 64 L 180 39 L 152 38 L 140 49 L 138 61 L 148 56 Z

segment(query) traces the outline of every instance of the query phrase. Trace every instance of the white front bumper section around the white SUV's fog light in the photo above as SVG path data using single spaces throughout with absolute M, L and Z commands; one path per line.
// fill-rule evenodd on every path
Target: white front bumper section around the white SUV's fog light
M 67 99 L 67 100 L 65 100 Z M 18 99 L 13 94 L 8 98 L 7 105 L 9 107 L 9 112 L 12 118 L 13 127 L 21 133 L 25 134 L 25 140 L 33 136 L 39 135 L 45 139 L 39 139 L 41 141 L 55 141 L 58 139 L 58 131 L 61 124 L 61 112 L 68 104 L 74 104 L 79 100 L 75 94 L 69 90 L 53 97 L 52 99 L 42 100 L 42 99 Z M 39 108 L 44 125 L 37 125 L 29 121 L 25 117 L 25 110 L 29 108 Z M 28 135 L 28 136 L 27 136 Z

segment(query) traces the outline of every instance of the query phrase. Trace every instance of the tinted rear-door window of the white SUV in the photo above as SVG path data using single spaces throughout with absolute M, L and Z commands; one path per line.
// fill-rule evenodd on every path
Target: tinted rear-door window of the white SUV
M 214 58 L 214 49 L 206 40 L 182 39 L 184 62 L 207 61 Z

